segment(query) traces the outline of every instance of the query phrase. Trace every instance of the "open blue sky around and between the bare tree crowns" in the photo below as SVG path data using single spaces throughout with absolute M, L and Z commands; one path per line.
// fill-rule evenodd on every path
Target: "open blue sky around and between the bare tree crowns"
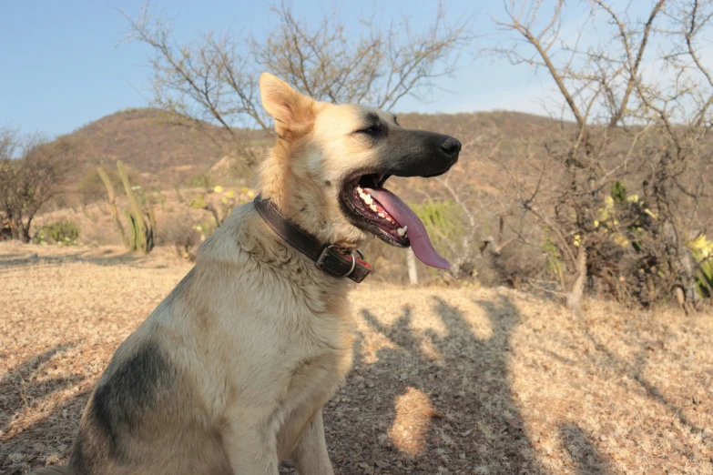
M 117 11 L 120 8 L 137 15 L 143 3 L 137 0 L 3 2 L 0 6 L 0 67 L 3 71 L 0 73 L 0 126 L 19 126 L 25 132 L 56 136 L 119 109 L 146 106 L 150 97 L 149 51 L 143 45 L 122 43 L 126 21 Z M 378 4 L 382 15 L 407 14 L 422 24 L 433 17 L 437 5 L 423 0 Z M 162 10 L 175 18 L 174 33 L 179 42 L 190 41 L 207 30 L 221 32 L 229 28 L 264 36 L 270 31 L 273 18 L 269 5 L 260 0 L 155 0 L 151 5 L 152 10 Z M 372 8 L 371 2 L 328 0 L 295 0 L 293 5 L 300 18 L 336 8 L 347 23 L 355 22 Z M 484 35 L 480 43 L 493 40 L 495 29 L 490 15 L 502 14 L 501 2 L 451 0 L 446 6 L 452 20 L 473 15 L 474 32 Z M 472 49 L 476 47 L 477 44 Z M 536 76 L 525 66 L 511 66 L 504 61 L 473 63 L 471 53 L 463 54 L 463 66 L 457 77 L 440 83 L 453 94 L 438 93 L 428 104 L 407 98 L 397 110 L 471 112 L 498 108 L 543 113 L 538 99 L 542 99 L 550 87 L 545 76 Z

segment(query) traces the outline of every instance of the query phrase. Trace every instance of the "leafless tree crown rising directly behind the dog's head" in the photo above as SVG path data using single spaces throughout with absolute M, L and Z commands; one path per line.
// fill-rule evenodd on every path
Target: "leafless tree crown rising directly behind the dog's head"
M 271 11 L 276 22 L 264 41 L 206 33 L 184 45 L 173 38 L 170 22 L 151 14 L 148 4 L 137 17 L 124 14 L 128 39 L 151 46 L 154 105 L 170 111 L 177 123 L 206 132 L 203 121 L 219 124 L 241 150 L 239 127 L 271 131 L 257 88 L 262 71 L 318 100 L 388 109 L 405 96 L 426 99 L 437 88 L 435 79 L 453 74 L 460 51 L 473 37 L 468 18 L 449 24 L 443 5 L 423 30 L 414 30 L 408 17 L 391 18 L 382 27 L 374 10 L 358 33 L 337 14 L 316 23 L 301 21 L 286 1 Z

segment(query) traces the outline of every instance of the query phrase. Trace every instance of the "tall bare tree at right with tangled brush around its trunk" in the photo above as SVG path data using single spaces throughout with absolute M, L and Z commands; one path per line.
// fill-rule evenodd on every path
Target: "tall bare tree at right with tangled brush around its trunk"
M 562 99 L 558 133 L 525 167 L 502 164 L 509 194 L 554 240 L 570 307 L 590 278 L 643 305 L 676 288 L 695 298 L 686 243 L 711 204 L 713 81 L 700 60 L 711 2 L 657 0 L 641 19 L 589 5 L 575 38 L 561 34 L 564 0 L 545 16 L 540 2 L 508 0 L 494 20 L 509 43 L 488 53 L 545 72 Z M 600 40 L 586 45 L 595 23 Z

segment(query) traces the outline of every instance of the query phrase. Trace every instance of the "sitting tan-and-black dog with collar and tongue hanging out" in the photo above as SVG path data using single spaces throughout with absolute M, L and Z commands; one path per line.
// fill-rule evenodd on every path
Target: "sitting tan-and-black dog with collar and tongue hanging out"
M 277 143 L 260 196 L 236 207 L 195 267 L 117 349 L 66 466 L 36 475 L 333 474 L 321 408 L 351 369 L 347 293 L 371 235 L 447 268 L 423 224 L 383 187 L 457 161 L 451 136 L 381 110 L 303 96 L 260 76 Z

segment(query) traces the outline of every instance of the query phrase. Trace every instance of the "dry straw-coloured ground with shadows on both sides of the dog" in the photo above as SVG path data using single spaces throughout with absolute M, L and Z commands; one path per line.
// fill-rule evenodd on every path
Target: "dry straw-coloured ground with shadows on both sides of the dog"
M 114 349 L 189 268 L 0 243 L 0 474 L 66 460 Z M 337 473 L 713 473 L 709 314 L 575 315 L 504 288 L 352 300 L 355 366 L 324 414 Z

